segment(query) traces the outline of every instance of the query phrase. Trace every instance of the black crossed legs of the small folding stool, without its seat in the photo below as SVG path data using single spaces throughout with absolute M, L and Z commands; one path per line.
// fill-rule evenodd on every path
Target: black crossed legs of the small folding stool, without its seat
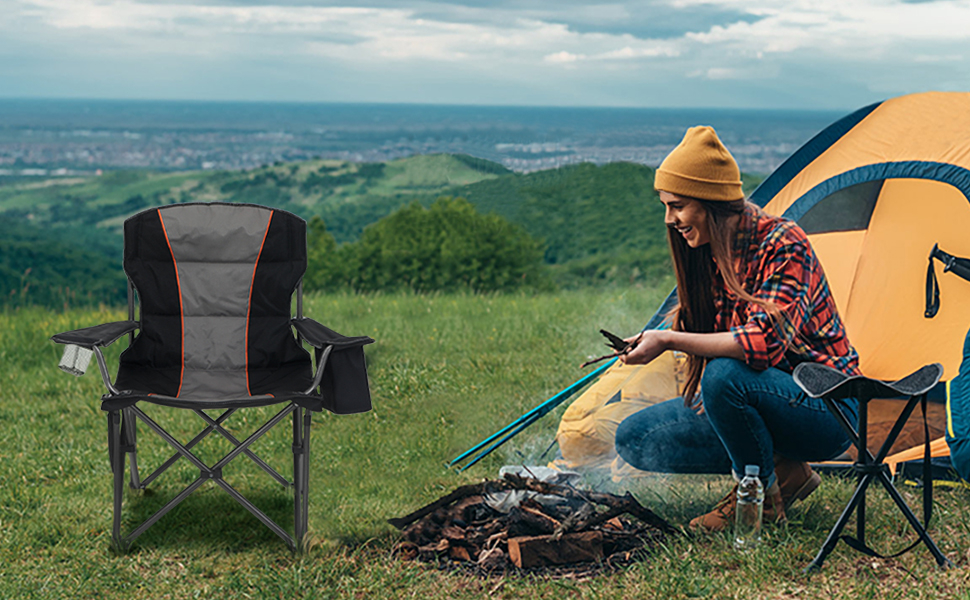
M 857 396 L 858 397 L 858 396 Z M 916 408 L 917 404 L 924 402 L 926 400 L 926 393 L 910 396 L 906 406 L 903 408 L 896 422 L 893 424 L 892 430 L 890 430 L 889 435 L 886 437 L 879 451 L 873 456 L 872 452 L 869 451 L 866 441 L 868 440 L 868 404 L 870 398 L 860 397 L 859 398 L 859 418 L 858 418 L 858 429 L 852 425 L 852 422 L 846 416 L 842 407 L 839 406 L 838 402 L 829 395 L 823 395 L 822 400 L 828 407 L 829 411 L 836 417 L 836 420 L 845 430 L 852 444 L 856 447 L 858 451 L 855 464 L 853 465 L 853 470 L 858 475 L 858 483 L 856 484 L 856 489 L 852 494 L 852 498 L 849 500 L 848 505 L 842 511 L 839 516 L 838 521 L 836 521 L 835 526 L 829 532 L 828 537 L 825 539 L 825 543 L 822 545 L 822 549 L 819 550 L 818 554 L 812 560 L 807 567 L 805 567 L 805 572 L 811 572 L 822 568 L 822 563 L 825 561 L 826 557 L 835 549 L 841 537 L 842 530 L 848 524 L 849 519 L 852 514 L 856 514 L 856 544 L 849 544 L 856 549 L 866 548 L 866 491 L 873 481 L 878 481 L 889 494 L 889 497 L 896 504 L 899 510 L 903 513 L 903 516 L 909 522 L 910 526 L 916 531 L 919 536 L 917 544 L 922 542 L 929 549 L 930 554 L 936 560 L 936 563 L 943 568 L 952 566 L 952 563 L 947 559 L 940 549 L 936 546 L 936 543 L 930 537 L 929 533 L 926 531 L 926 526 L 929 523 L 922 524 L 913 511 L 906 504 L 906 500 L 903 499 L 902 495 L 893 485 L 892 479 L 890 478 L 889 466 L 886 465 L 883 460 L 888 456 L 890 449 L 896 441 L 902 431 L 906 421 L 909 420 L 910 415 L 912 415 L 913 410 Z M 931 485 L 931 482 L 924 482 L 924 485 Z M 848 541 L 846 543 L 849 543 Z M 908 550 L 908 548 L 907 548 Z M 904 550 L 905 552 L 905 550 Z

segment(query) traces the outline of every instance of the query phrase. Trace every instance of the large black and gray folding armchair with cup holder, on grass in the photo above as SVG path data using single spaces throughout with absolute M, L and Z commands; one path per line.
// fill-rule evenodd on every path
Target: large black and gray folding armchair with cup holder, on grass
M 311 414 L 323 408 L 338 414 L 370 410 L 363 346 L 374 340 L 345 337 L 304 318 L 306 223 L 295 215 L 247 204 L 173 205 L 129 218 L 124 238 L 128 320 L 51 338 L 68 344 L 61 367 L 74 374 L 83 373 L 93 353 L 108 390 L 101 408 L 108 416 L 114 475 L 115 546 L 127 550 L 135 538 L 211 480 L 290 549 L 301 550 L 307 532 Z M 296 316 L 291 318 L 294 292 Z M 125 334 L 129 346 L 112 383 L 101 348 Z M 315 348 L 315 370 L 301 341 Z M 182 443 L 140 403 L 190 410 L 206 427 Z M 236 411 L 270 405 L 283 407 L 242 441 L 224 427 Z M 293 420 L 292 481 L 251 449 L 287 416 Z M 144 479 L 137 461 L 139 420 L 175 449 Z M 228 440 L 233 449 L 208 465 L 192 448 L 212 433 Z M 182 458 L 199 470 L 195 481 L 127 535 L 121 531 L 125 454 L 133 489 L 145 489 Z M 241 455 L 277 482 L 293 487 L 293 535 L 223 478 L 223 469 Z

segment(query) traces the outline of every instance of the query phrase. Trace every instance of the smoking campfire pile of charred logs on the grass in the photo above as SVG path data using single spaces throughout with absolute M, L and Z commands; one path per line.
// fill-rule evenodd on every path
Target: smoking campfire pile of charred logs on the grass
M 459 487 L 389 523 L 403 532 L 394 549 L 399 558 L 480 573 L 591 574 L 630 564 L 676 532 L 629 493 L 511 473 Z

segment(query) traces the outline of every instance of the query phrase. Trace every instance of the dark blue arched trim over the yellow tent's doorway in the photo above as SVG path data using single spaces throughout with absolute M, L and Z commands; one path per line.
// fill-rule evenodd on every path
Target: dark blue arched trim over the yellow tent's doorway
M 784 216 L 797 222 L 829 195 L 850 185 L 883 179 L 930 179 L 949 183 L 970 201 L 970 170 L 947 163 L 911 160 L 866 165 L 826 179 L 793 202 Z

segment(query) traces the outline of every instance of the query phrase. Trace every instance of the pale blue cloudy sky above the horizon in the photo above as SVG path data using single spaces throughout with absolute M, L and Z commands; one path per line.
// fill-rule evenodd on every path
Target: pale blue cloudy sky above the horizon
M 970 90 L 970 0 L 0 0 L 0 97 L 854 109 Z

